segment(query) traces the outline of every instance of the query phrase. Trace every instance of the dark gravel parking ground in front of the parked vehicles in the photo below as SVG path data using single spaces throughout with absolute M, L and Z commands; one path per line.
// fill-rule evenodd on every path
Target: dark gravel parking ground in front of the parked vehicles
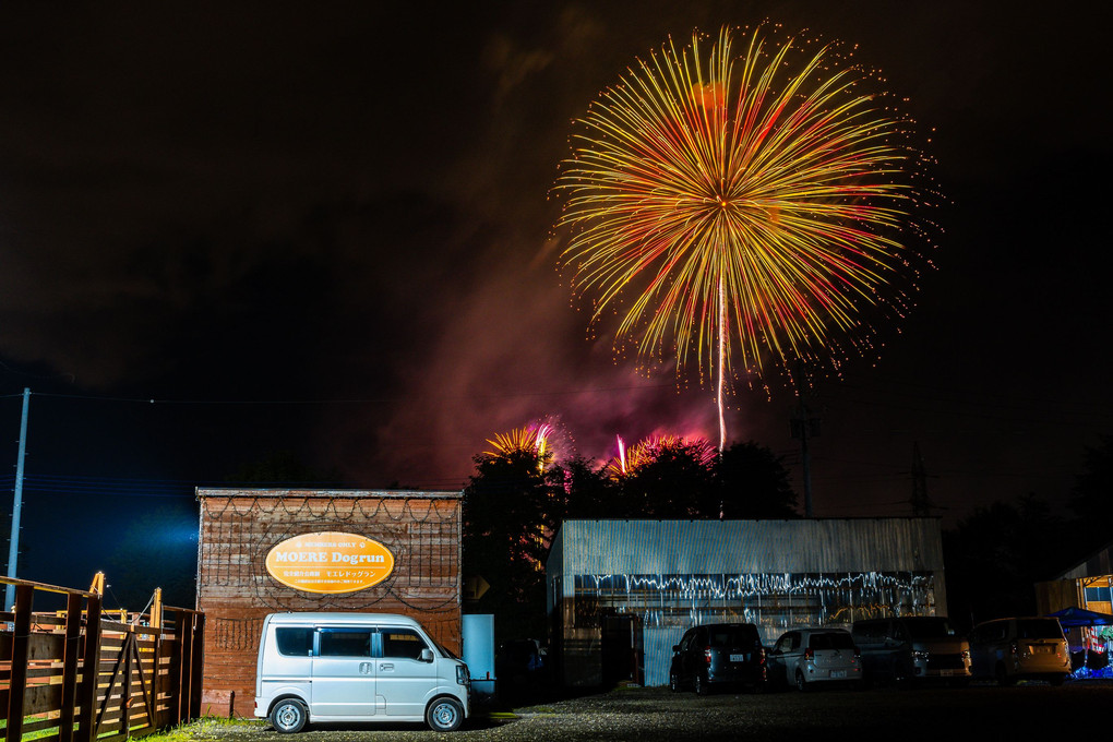
M 663 687 L 627 687 L 509 712 L 498 706 L 476 711 L 462 731 L 446 736 L 417 725 L 312 726 L 298 735 L 282 735 L 262 722 L 208 728 L 204 735 L 221 742 L 1113 739 L 1113 683 L 1090 681 L 1062 687 L 1032 683 L 705 698 Z

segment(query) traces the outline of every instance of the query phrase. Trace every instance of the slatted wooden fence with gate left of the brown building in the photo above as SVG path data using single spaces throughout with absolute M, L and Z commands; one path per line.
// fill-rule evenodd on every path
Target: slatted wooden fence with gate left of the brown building
M 3 584 L 16 586 L 14 610 L 0 613 L 6 742 L 32 732 L 43 742 L 105 742 L 200 715 L 203 613 L 156 605 L 146 616 L 109 614 L 97 592 Z M 33 612 L 37 596 L 58 594 L 63 610 Z

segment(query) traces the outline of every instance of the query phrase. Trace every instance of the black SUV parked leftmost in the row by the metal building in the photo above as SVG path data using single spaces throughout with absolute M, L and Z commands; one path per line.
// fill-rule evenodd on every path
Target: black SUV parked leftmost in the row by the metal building
M 766 656 L 758 627 L 751 623 L 711 623 L 684 632 L 672 647 L 669 686 L 692 687 L 703 695 L 717 685 L 765 689 Z

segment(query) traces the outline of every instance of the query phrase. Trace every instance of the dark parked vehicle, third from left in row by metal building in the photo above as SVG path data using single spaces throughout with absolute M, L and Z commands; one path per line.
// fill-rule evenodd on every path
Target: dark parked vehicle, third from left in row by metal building
M 855 621 L 850 634 L 861 650 L 861 672 L 867 683 L 969 683 L 969 642 L 955 634 L 945 616 Z

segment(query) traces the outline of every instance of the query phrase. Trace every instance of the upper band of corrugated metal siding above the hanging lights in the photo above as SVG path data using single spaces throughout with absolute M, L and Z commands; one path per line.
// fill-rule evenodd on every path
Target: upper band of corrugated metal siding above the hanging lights
M 550 563 L 564 575 L 942 572 L 943 547 L 936 518 L 569 521 Z

